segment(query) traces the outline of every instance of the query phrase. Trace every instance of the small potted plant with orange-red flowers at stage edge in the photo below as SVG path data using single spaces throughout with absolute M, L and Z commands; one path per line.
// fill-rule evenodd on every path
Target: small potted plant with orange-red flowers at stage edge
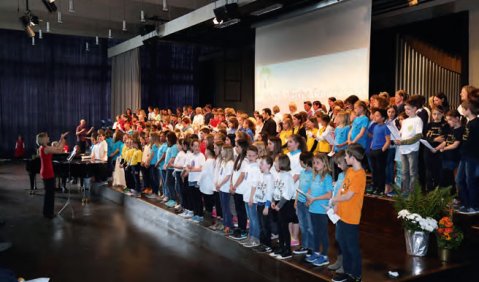
M 436 235 L 439 259 L 448 262 L 451 260 L 451 251 L 461 245 L 464 234 L 454 225 L 449 215 L 439 220 Z

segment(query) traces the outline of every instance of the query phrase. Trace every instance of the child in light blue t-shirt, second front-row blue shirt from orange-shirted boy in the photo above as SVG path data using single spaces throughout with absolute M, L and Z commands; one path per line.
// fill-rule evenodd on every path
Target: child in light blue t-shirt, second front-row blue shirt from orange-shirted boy
M 294 250 L 295 255 L 306 254 L 310 256 L 313 253 L 313 229 L 311 225 L 311 216 L 309 214 L 307 202 L 307 193 L 311 188 L 313 181 L 313 154 L 311 152 L 303 152 L 299 155 L 299 162 L 301 173 L 299 174 L 299 190 L 296 192 L 296 201 L 294 207 L 296 208 L 296 215 L 298 216 L 299 229 L 301 230 L 302 246 Z

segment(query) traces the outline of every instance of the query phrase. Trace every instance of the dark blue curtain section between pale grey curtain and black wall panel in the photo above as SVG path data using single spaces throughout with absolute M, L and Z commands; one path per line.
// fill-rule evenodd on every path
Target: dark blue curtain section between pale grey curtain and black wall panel
M 200 47 L 150 42 L 141 47 L 142 108 L 196 106 Z

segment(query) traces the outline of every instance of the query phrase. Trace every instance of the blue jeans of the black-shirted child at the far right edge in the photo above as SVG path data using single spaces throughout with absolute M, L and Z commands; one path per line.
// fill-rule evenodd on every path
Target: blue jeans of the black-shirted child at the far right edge
M 479 163 L 461 160 L 457 170 L 456 183 L 461 204 L 466 208 L 479 208 Z

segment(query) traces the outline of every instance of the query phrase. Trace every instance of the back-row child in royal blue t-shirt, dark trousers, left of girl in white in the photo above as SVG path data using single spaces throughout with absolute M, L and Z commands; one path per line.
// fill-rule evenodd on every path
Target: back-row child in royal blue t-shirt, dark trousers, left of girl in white
M 376 109 L 373 113 L 376 126 L 373 130 L 369 157 L 373 172 L 373 193 L 377 195 L 384 193 L 384 188 L 386 187 L 386 164 L 388 149 L 391 144 L 391 131 L 384 123 L 387 117 L 385 109 Z

